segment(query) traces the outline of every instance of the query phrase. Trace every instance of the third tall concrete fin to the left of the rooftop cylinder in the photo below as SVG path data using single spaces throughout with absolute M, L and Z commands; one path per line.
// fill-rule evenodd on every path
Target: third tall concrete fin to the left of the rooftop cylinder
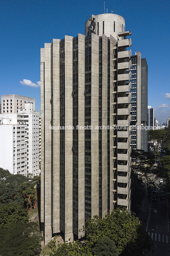
M 53 126 L 60 126 L 60 40 L 52 43 Z M 53 130 L 53 233 L 60 232 L 60 129 Z

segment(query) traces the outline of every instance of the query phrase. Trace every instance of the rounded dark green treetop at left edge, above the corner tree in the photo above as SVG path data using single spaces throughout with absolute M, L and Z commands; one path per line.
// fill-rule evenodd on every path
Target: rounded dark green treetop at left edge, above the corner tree
M 28 213 L 19 203 L 6 203 L 0 206 L 0 228 L 9 228 L 11 223 L 28 221 Z

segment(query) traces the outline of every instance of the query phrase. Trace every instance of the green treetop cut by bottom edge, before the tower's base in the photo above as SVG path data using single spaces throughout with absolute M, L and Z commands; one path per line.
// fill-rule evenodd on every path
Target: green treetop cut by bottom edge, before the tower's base
M 92 256 L 89 248 L 76 242 L 66 242 L 64 244 L 55 245 L 55 241 L 50 242 L 51 253 L 50 256 Z

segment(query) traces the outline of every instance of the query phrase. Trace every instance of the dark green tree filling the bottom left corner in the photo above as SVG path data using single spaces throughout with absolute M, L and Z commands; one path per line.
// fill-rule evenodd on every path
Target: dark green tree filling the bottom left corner
M 42 240 L 37 223 L 12 223 L 9 229 L 0 228 L 0 255 L 39 255 Z

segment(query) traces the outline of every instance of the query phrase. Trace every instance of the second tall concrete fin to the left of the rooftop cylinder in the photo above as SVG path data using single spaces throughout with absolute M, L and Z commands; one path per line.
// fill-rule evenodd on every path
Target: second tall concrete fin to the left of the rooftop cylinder
M 65 126 L 72 126 L 72 36 L 65 36 Z M 65 129 L 65 240 L 72 233 L 72 129 Z

